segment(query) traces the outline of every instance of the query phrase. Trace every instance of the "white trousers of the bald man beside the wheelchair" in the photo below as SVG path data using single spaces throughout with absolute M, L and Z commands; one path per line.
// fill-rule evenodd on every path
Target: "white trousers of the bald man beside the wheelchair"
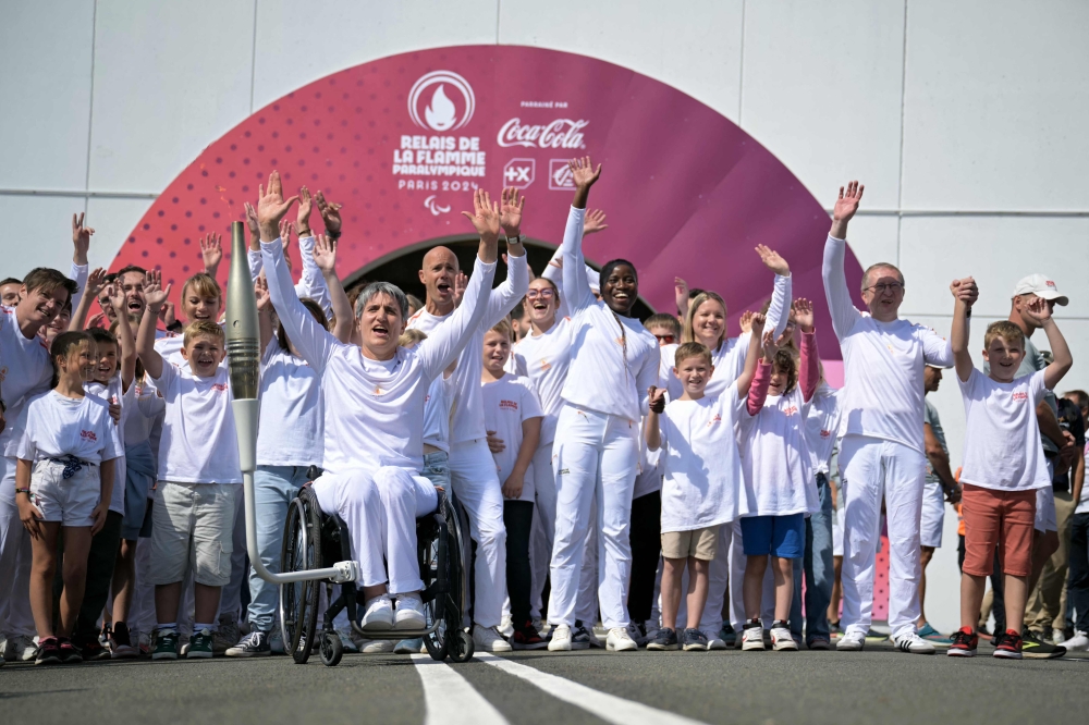
M 486 440 L 450 446 L 450 483 L 468 515 L 469 536 L 477 542 L 473 622 L 498 627 L 506 599 L 506 526 L 502 483 Z

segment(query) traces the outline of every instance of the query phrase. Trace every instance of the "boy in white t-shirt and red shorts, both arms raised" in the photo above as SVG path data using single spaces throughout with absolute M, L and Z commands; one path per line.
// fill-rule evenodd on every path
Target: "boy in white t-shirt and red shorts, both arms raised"
M 1025 357 L 1025 333 L 1013 322 L 992 322 L 983 335 L 984 376 L 972 367 L 968 352 L 971 278 L 951 285 L 956 299 L 950 344 L 957 383 L 964 398 L 964 463 L 960 470 L 960 514 L 965 556 L 960 574 L 960 629 L 953 632 L 950 656 L 972 656 L 979 637 L 976 625 L 994 549 L 1002 552 L 1006 631 L 998 634 L 994 656 L 1020 660 L 1021 625 L 1032 573 L 1032 529 L 1038 489 L 1051 487 L 1040 446 L 1036 406 L 1063 379 L 1074 358 L 1051 317 L 1052 303 L 1035 297 L 1023 312 L 1043 328 L 1054 361 L 1030 376 L 1014 378 Z M 1054 656 L 1061 655 L 1060 651 Z

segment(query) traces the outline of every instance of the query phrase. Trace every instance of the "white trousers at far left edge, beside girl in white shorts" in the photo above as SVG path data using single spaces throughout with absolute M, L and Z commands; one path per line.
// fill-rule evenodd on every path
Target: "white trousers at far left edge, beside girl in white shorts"
M 10 425 L 10 423 L 9 423 Z M 0 456 L 0 632 L 34 637 L 30 613 L 30 534 L 15 505 L 15 458 Z

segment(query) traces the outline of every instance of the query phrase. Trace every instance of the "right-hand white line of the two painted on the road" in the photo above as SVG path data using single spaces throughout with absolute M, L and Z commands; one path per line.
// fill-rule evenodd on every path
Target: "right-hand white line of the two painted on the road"
M 625 700 L 615 695 L 600 692 L 565 677 L 550 675 L 535 667 L 498 658 L 494 654 L 478 652 L 473 656 L 499 667 L 509 675 L 521 677 L 558 700 L 577 705 L 603 721 L 614 723 L 614 725 L 703 725 L 698 720 Z

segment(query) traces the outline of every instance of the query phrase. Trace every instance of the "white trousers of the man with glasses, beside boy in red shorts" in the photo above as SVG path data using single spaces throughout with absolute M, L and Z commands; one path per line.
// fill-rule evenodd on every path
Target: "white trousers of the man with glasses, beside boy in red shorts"
M 843 520 L 844 631 L 866 634 L 873 616 L 873 575 L 881 499 L 889 526 L 889 628 L 916 630 L 919 618 L 919 527 L 927 458 L 903 443 L 844 435 L 840 444 Z

